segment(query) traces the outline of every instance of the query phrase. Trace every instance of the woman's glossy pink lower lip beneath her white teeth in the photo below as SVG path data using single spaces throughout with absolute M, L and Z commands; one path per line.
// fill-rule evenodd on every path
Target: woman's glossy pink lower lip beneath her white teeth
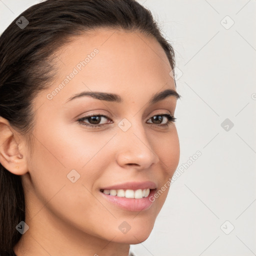
M 104 194 L 99 191 L 104 198 L 108 201 L 116 204 L 117 206 L 130 211 L 141 211 L 148 209 L 153 202 L 149 200 L 150 196 L 154 194 L 156 189 L 150 189 L 150 192 L 147 197 L 142 198 L 126 198 L 126 197 L 118 197 L 116 195 Z

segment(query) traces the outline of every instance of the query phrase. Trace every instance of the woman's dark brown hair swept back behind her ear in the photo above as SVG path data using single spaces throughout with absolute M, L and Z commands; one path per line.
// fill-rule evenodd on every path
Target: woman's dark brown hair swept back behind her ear
M 25 27 L 16 23 L 21 16 L 29 22 Z M 46 0 L 23 11 L 0 36 L 0 116 L 29 138 L 32 99 L 53 79 L 54 52 L 69 38 L 99 27 L 154 36 L 174 68 L 173 48 L 151 12 L 135 0 Z M 15 227 L 21 220 L 25 220 L 21 176 L 0 164 L 1 256 L 15 255 L 13 246 L 21 237 Z

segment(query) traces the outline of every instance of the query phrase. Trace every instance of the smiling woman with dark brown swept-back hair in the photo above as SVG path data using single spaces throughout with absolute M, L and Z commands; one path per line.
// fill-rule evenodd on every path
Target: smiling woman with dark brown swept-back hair
M 134 0 L 47 0 L 0 36 L 0 255 L 132 255 L 179 161 L 174 53 Z

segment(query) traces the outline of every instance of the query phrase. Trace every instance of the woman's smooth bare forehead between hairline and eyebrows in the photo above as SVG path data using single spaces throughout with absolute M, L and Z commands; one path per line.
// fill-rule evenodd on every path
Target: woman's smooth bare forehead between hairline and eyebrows
M 63 103 L 84 90 L 137 100 L 136 96 L 148 99 L 159 90 L 175 89 L 164 50 L 154 37 L 138 31 L 96 29 L 73 37 L 54 55 L 57 74 L 50 90 L 64 85 L 54 101 Z

